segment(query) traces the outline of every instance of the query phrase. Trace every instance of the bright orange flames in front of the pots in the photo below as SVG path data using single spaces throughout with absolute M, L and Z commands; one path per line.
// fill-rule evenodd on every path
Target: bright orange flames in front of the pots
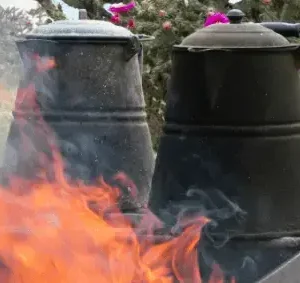
M 39 65 L 39 71 L 56 65 L 52 59 L 42 61 L 47 63 Z M 18 97 L 16 108 L 33 103 L 33 84 Z M 26 123 L 18 119 L 21 126 Z M 8 189 L 0 190 L 0 282 L 202 282 L 196 247 L 209 219 L 189 219 L 179 235 L 157 235 L 149 229 L 154 218 L 150 211 L 138 223 L 120 211 L 121 191 L 116 185 L 101 177 L 96 185 L 68 182 L 55 138 L 45 130 L 42 118 L 36 123 L 37 130 L 44 126 L 51 148 L 51 157 L 40 153 L 41 164 L 51 162 L 53 174 L 49 178 L 41 166 L 37 180 L 10 176 Z M 136 189 L 121 172 L 115 180 Z M 223 275 L 216 267 L 209 283 L 220 282 Z

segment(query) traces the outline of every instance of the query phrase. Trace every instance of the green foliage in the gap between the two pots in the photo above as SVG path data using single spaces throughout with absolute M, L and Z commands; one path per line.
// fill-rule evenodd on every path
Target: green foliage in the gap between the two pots
M 134 32 L 155 37 L 152 42 L 144 44 L 143 72 L 148 121 L 155 147 L 163 124 L 172 46 L 202 26 L 208 5 L 208 1 L 201 3 L 198 0 L 143 0 L 137 3 Z M 165 22 L 171 23 L 170 30 L 163 28 Z

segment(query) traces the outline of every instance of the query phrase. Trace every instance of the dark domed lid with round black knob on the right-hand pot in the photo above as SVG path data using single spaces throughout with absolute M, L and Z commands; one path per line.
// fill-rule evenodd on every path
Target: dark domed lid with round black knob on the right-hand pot
M 197 48 L 276 48 L 292 47 L 280 34 L 256 23 L 242 23 L 244 13 L 234 9 L 228 12 L 230 24 L 213 24 L 186 37 L 177 47 Z

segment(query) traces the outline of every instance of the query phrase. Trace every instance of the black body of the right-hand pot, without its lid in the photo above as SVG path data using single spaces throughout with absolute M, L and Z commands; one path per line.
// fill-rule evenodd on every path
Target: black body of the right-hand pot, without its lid
M 175 49 L 165 120 L 156 213 L 196 207 L 223 235 L 300 231 L 300 88 L 290 52 Z

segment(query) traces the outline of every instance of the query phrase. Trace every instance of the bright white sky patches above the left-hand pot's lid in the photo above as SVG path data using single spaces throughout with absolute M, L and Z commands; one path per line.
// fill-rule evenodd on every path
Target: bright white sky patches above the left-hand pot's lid
M 67 4 L 65 4 L 62 0 L 53 0 L 53 3 L 58 4 L 61 3 L 63 11 L 65 15 L 70 20 L 78 19 L 78 10 L 74 9 Z M 9 6 L 14 6 L 20 9 L 29 10 L 37 7 L 37 2 L 34 0 L 0 0 L 0 6 L 6 8 Z

